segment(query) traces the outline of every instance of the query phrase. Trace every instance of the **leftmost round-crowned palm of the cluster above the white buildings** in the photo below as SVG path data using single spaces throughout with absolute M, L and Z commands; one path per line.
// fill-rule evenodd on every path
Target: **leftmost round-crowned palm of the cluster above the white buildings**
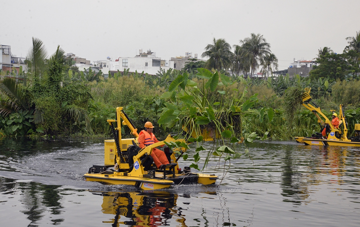
M 228 69 L 231 65 L 231 46 L 223 38 L 213 39 L 212 44 L 208 44 L 205 47 L 205 52 L 202 53 L 202 57 L 208 57 L 209 59 L 206 62 L 207 69 Z

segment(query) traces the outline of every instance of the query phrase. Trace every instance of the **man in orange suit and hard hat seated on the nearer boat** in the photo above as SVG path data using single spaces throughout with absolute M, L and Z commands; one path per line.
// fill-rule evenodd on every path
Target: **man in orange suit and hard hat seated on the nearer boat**
M 140 148 L 144 148 L 146 146 L 159 142 L 153 133 L 153 124 L 148 121 L 145 123 L 144 127 L 145 130 L 141 130 L 138 138 Z M 150 155 L 153 157 L 154 163 L 158 169 L 163 169 L 167 164 L 169 164 L 166 154 L 157 148 L 154 148 Z

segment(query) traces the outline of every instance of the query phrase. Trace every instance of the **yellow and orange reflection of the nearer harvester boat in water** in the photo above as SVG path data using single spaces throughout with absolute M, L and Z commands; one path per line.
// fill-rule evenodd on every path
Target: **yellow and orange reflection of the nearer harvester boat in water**
M 165 226 L 175 218 L 180 226 L 186 227 L 181 208 L 176 206 L 178 195 L 164 191 L 141 192 L 95 192 L 103 196 L 102 212 L 113 214 L 112 226 Z

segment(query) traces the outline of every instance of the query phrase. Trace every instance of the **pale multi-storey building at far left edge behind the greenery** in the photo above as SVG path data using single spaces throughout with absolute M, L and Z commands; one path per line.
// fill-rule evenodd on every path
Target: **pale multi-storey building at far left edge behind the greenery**
M 3 72 L 10 72 L 10 73 L 19 73 L 20 66 L 22 66 L 22 71 L 26 71 L 26 58 L 18 58 L 16 55 L 11 53 L 11 46 L 8 45 L 0 45 L 0 69 Z M 16 71 L 16 72 L 15 72 Z

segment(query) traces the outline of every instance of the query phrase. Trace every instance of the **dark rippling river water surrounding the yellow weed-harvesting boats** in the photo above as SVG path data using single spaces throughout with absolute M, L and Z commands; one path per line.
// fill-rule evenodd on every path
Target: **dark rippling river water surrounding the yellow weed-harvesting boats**
M 266 141 L 249 150 L 219 189 L 138 191 L 84 181 L 103 164 L 102 141 L 0 140 L 0 226 L 360 226 L 359 148 Z M 223 171 L 215 160 L 206 169 Z

